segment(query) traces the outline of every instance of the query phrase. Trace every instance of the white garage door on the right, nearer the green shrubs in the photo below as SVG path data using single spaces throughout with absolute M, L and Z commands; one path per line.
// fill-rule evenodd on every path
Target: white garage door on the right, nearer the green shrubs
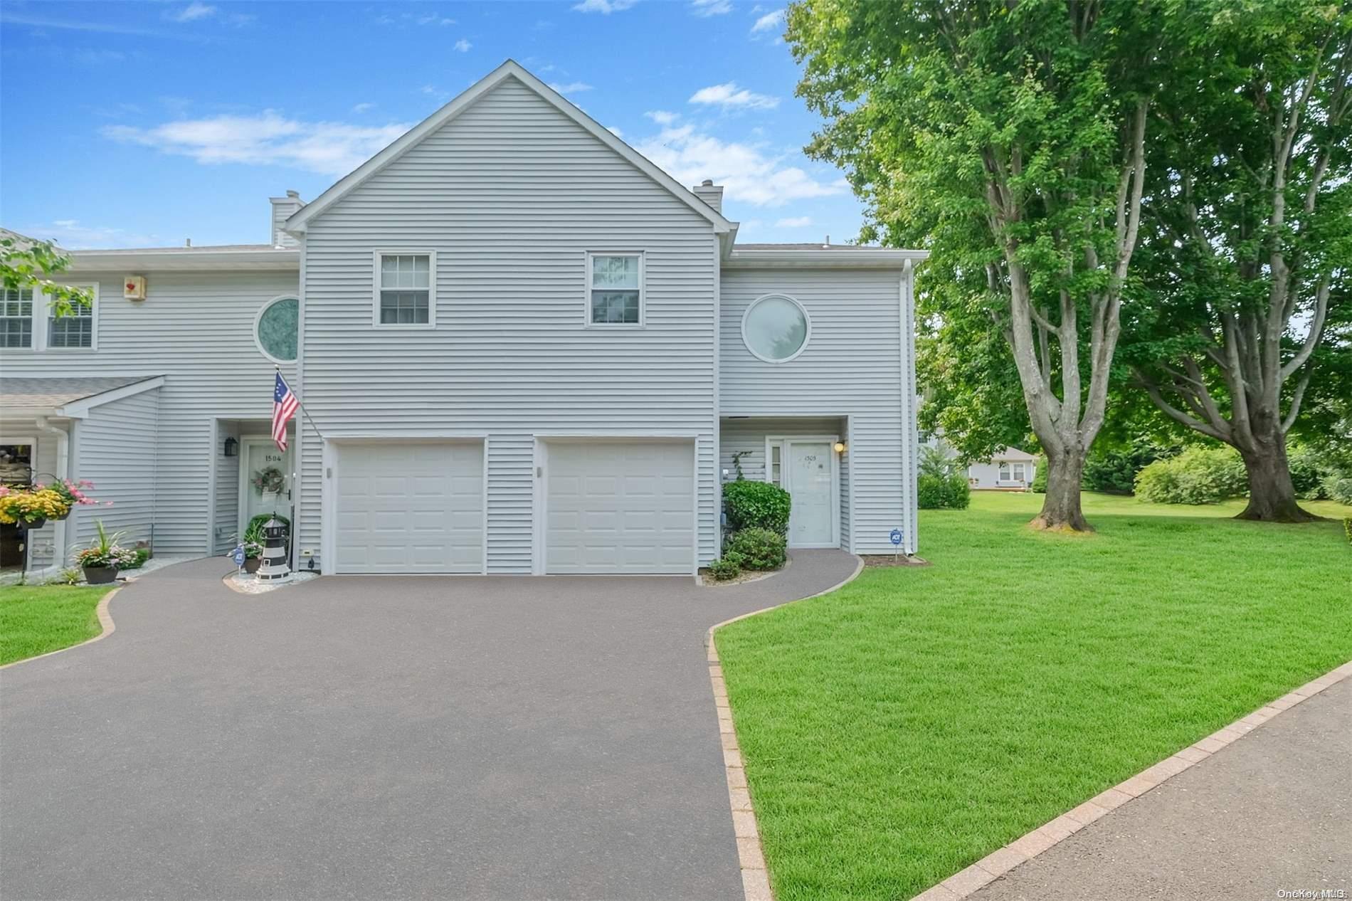
M 545 571 L 692 572 L 694 480 L 690 441 L 550 442 Z

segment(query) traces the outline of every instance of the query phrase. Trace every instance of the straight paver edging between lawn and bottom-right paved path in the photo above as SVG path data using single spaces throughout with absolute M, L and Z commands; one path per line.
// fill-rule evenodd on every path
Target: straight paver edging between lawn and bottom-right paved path
M 1084 804 L 1067 810 L 1051 823 L 1044 823 L 1025 836 L 1010 841 L 1003 848 L 994 851 L 965 870 L 955 873 L 938 885 L 930 886 L 911 901 L 960 901 L 1018 864 L 1032 860 L 1071 837 L 1088 824 L 1114 810 L 1124 804 L 1134 801 L 1146 791 L 1156 789 L 1184 770 L 1206 760 L 1224 747 L 1242 739 L 1245 735 L 1263 725 L 1268 720 L 1290 710 L 1307 698 L 1329 689 L 1343 679 L 1352 678 L 1352 660 L 1325 672 L 1317 679 L 1306 682 L 1298 689 L 1293 689 L 1276 701 L 1268 702 L 1248 714 L 1236 720 L 1228 726 L 1217 729 L 1205 739 L 1194 741 L 1178 754 L 1168 756 L 1152 767 L 1146 767 L 1130 779 L 1115 785 L 1111 789 L 1094 795 Z

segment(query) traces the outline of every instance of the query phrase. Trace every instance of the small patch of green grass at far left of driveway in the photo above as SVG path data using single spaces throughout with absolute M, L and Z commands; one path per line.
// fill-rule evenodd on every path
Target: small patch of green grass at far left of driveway
M 88 641 L 108 587 L 0 586 L 0 664 Z

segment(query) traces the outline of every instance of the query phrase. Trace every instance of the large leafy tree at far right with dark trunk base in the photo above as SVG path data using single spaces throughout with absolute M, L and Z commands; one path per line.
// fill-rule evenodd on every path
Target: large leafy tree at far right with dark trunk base
M 1286 438 L 1345 391 L 1352 317 L 1352 5 L 1195 1 L 1195 35 L 1152 130 L 1126 327 L 1136 380 L 1184 426 L 1234 446 L 1240 518 L 1311 518 Z M 1330 398 L 1332 399 L 1332 398 Z M 1324 406 L 1324 405 L 1321 405 Z

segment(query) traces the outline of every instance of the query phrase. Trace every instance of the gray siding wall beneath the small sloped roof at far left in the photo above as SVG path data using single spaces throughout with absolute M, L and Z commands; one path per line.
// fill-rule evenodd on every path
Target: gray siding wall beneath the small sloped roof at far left
M 72 549 L 88 547 L 97 522 L 108 532 L 124 532 L 123 547 L 155 538 L 160 391 L 99 405 L 76 421 L 70 471 L 93 482 L 89 494 L 97 506 L 77 506 L 66 540 Z M 111 502 L 112 506 L 104 506 Z

